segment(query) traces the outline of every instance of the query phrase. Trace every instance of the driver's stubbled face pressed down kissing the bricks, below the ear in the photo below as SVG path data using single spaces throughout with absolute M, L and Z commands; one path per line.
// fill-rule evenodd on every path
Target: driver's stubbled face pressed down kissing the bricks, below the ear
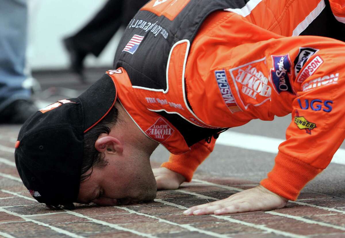
M 106 166 L 93 168 L 91 176 L 80 183 L 78 202 L 115 206 L 155 199 L 157 184 L 149 161 L 138 164 L 111 156 L 106 160 Z

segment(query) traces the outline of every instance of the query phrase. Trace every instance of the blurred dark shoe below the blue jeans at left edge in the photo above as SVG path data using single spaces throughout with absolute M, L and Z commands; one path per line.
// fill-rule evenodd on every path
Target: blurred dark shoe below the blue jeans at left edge
M 23 124 L 37 110 L 31 101 L 16 100 L 0 112 L 0 123 Z

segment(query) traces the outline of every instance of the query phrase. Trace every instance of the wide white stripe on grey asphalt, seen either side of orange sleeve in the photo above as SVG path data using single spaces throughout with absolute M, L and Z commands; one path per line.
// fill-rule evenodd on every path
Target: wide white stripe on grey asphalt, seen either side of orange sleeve
M 283 141 L 285 140 L 261 135 L 226 131 L 219 135 L 216 144 L 277 154 L 278 146 Z M 345 150 L 338 149 L 337 152 L 335 152 L 331 163 L 345 164 Z

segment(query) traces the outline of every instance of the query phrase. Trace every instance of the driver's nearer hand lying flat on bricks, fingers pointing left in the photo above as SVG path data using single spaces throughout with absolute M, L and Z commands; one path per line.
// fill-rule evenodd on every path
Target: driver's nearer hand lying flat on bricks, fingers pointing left
M 283 208 L 287 201 L 286 198 L 280 197 L 259 185 L 255 188 L 233 194 L 223 200 L 191 207 L 184 211 L 183 214 L 186 216 L 206 214 L 223 215 L 248 211 L 269 211 Z

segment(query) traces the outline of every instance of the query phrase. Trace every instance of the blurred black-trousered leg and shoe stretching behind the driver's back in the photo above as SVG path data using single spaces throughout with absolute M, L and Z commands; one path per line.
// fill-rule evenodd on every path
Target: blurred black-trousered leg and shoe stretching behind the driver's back
M 85 57 L 88 54 L 98 57 L 118 29 L 126 26 L 147 2 L 148 0 L 108 0 L 81 30 L 63 40 L 70 57 L 70 68 L 80 76 L 82 82 L 85 81 Z

